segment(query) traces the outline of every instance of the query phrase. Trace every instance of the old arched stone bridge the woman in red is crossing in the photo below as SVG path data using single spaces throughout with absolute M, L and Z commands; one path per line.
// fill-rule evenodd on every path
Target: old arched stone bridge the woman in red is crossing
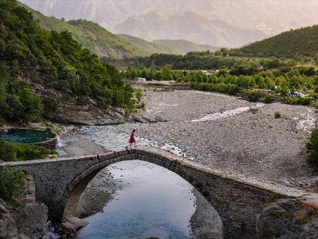
M 73 215 L 80 195 L 97 172 L 112 163 L 135 159 L 165 167 L 196 187 L 220 215 L 224 238 L 256 238 L 254 215 L 263 204 L 304 194 L 148 146 L 92 156 L 10 162 L 10 165 L 32 175 L 36 200 L 48 206 L 49 216 L 64 220 Z M 0 167 L 4 165 L 0 163 Z

